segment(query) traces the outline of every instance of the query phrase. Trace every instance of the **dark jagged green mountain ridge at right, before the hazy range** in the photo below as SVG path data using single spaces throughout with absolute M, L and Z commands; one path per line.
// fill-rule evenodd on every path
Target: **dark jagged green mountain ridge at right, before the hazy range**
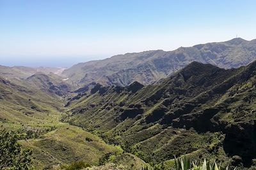
M 251 166 L 255 83 L 256 62 L 237 69 L 191 62 L 154 85 L 97 84 L 70 100 L 65 121 L 98 132 L 145 162 L 164 162 L 167 169 L 173 155 L 182 154 Z

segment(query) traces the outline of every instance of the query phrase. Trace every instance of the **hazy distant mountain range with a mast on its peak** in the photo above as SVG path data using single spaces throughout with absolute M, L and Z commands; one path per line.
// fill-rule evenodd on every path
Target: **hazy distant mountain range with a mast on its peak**
M 245 66 L 256 59 L 256 39 L 241 38 L 220 43 L 207 43 L 164 52 L 154 50 L 115 55 L 104 60 L 76 64 L 63 75 L 77 87 L 95 82 L 102 85 L 129 85 L 138 81 L 145 85 L 178 71 L 190 62 L 213 64 L 225 69 Z

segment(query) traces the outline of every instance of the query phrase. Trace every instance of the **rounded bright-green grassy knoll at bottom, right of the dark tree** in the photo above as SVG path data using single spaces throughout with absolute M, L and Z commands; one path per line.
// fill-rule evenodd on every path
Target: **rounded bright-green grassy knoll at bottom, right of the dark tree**
M 87 141 L 86 138 L 92 141 Z M 105 154 L 122 153 L 118 147 L 107 145 L 99 137 L 68 124 L 63 124 L 38 139 L 22 141 L 22 146 L 33 150 L 33 164 L 37 169 L 77 161 L 97 165 Z

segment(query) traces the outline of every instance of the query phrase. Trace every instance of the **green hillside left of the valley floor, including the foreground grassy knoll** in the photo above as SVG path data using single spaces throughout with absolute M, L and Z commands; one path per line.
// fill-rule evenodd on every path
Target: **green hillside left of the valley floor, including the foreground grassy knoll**
M 95 134 L 61 122 L 66 115 L 66 97 L 72 94 L 65 88 L 69 88 L 67 83 L 53 76 L 36 73 L 26 81 L 0 78 L 0 130 L 21 135 L 22 147 L 33 152 L 35 169 L 52 169 L 77 161 L 99 166 L 100 162 L 123 164 L 127 160 L 125 167 L 131 169 L 147 165 L 124 153 L 120 146 L 108 145 Z M 115 155 L 115 159 L 105 160 L 106 155 Z

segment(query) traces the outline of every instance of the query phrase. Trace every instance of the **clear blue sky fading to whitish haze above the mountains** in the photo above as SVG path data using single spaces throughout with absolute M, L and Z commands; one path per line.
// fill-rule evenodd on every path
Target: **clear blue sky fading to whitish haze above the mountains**
M 256 39 L 255 0 L 0 0 L 0 65 L 70 67 L 236 36 Z

